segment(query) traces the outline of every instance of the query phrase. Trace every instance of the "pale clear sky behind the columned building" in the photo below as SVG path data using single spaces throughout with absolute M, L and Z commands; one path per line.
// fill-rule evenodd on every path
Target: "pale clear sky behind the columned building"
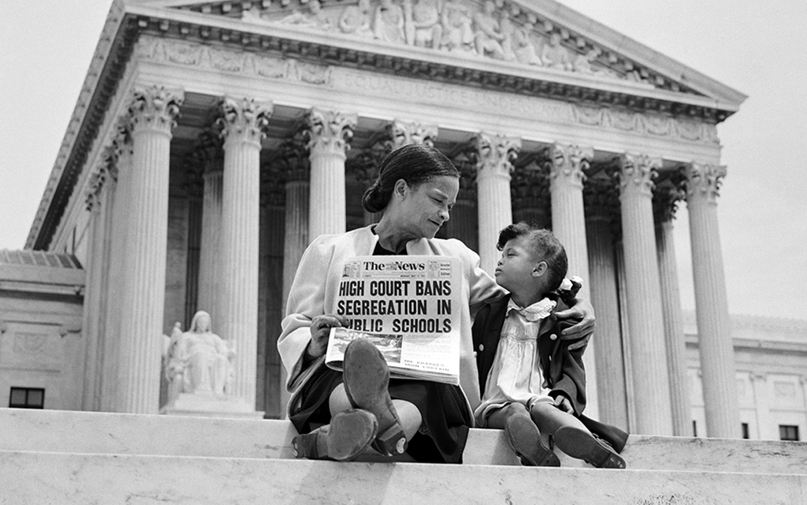
M 749 95 L 717 126 L 717 213 L 731 314 L 807 319 L 807 2 L 565 0 Z M 0 17 L 0 249 L 23 248 L 110 0 L 18 2 Z M 695 307 L 686 206 L 675 220 L 681 304 Z

